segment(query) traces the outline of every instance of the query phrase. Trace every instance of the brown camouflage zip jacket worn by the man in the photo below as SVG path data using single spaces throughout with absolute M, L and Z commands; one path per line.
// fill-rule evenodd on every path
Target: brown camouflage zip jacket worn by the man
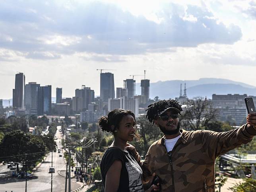
M 162 192 L 215 192 L 215 159 L 252 140 L 256 130 L 246 125 L 219 133 L 180 130 L 170 159 L 161 138 L 149 147 L 142 163 L 144 181 L 155 172 Z

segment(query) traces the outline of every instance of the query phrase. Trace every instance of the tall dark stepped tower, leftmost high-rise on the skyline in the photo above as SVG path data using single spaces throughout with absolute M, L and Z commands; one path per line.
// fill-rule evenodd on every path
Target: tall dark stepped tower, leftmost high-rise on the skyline
M 12 90 L 12 107 L 24 109 L 25 75 L 15 75 L 15 89 Z

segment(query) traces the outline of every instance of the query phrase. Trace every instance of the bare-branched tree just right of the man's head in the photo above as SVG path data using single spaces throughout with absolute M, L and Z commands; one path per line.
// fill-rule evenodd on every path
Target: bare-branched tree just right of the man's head
M 211 103 L 202 97 L 188 100 L 188 105 L 181 116 L 182 127 L 190 130 L 199 130 L 216 119 L 217 110 L 211 107 Z

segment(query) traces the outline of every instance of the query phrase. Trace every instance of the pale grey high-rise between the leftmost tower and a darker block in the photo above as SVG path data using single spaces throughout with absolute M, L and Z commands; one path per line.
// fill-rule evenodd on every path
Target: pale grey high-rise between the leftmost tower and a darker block
M 29 82 L 25 85 L 25 109 L 27 114 L 38 114 L 39 87 L 36 82 Z

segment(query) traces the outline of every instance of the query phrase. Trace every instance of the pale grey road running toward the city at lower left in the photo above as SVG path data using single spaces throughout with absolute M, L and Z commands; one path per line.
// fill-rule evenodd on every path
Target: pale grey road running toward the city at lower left
M 58 145 L 58 149 L 62 149 L 61 139 L 62 134 L 59 132 L 61 126 L 57 126 L 56 132 L 56 144 Z M 53 156 L 51 156 L 53 154 Z M 59 157 L 59 155 L 62 157 Z M 62 150 L 60 153 L 53 152 L 50 153 L 45 162 L 41 164 L 41 166 L 34 171 L 33 178 L 27 180 L 27 192 L 50 192 L 51 188 L 51 174 L 49 172 L 49 167 L 51 166 L 51 158 L 52 165 L 55 168 L 55 173 L 52 174 L 52 191 L 53 192 L 64 192 L 65 191 L 65 178 L 58 174 L 59 171 L 66 170 L 66 165 L 64 162 L 64 155 Z M 63 171 L 62 171 L 63 172 Z M 7 169 L 7 165 L 0 166 L 0 192 L 25 192 L 25 179 L 17 179 L 11 178 L 12 171 Z M 65 172 L 64 172 L 65 173 Z M 4 175 L 8 175 L 8 178 L 3 178 Z M 68 183 L 68 182 L 67 182 Z M 80 184 L 76 183 L 76 179 L 71 179 L 71 189 L 75 190 L 80 187 Z M 68 186 L 67 186 L 68 189 Z M 67 190 L 68 191 L 68 190 Z

